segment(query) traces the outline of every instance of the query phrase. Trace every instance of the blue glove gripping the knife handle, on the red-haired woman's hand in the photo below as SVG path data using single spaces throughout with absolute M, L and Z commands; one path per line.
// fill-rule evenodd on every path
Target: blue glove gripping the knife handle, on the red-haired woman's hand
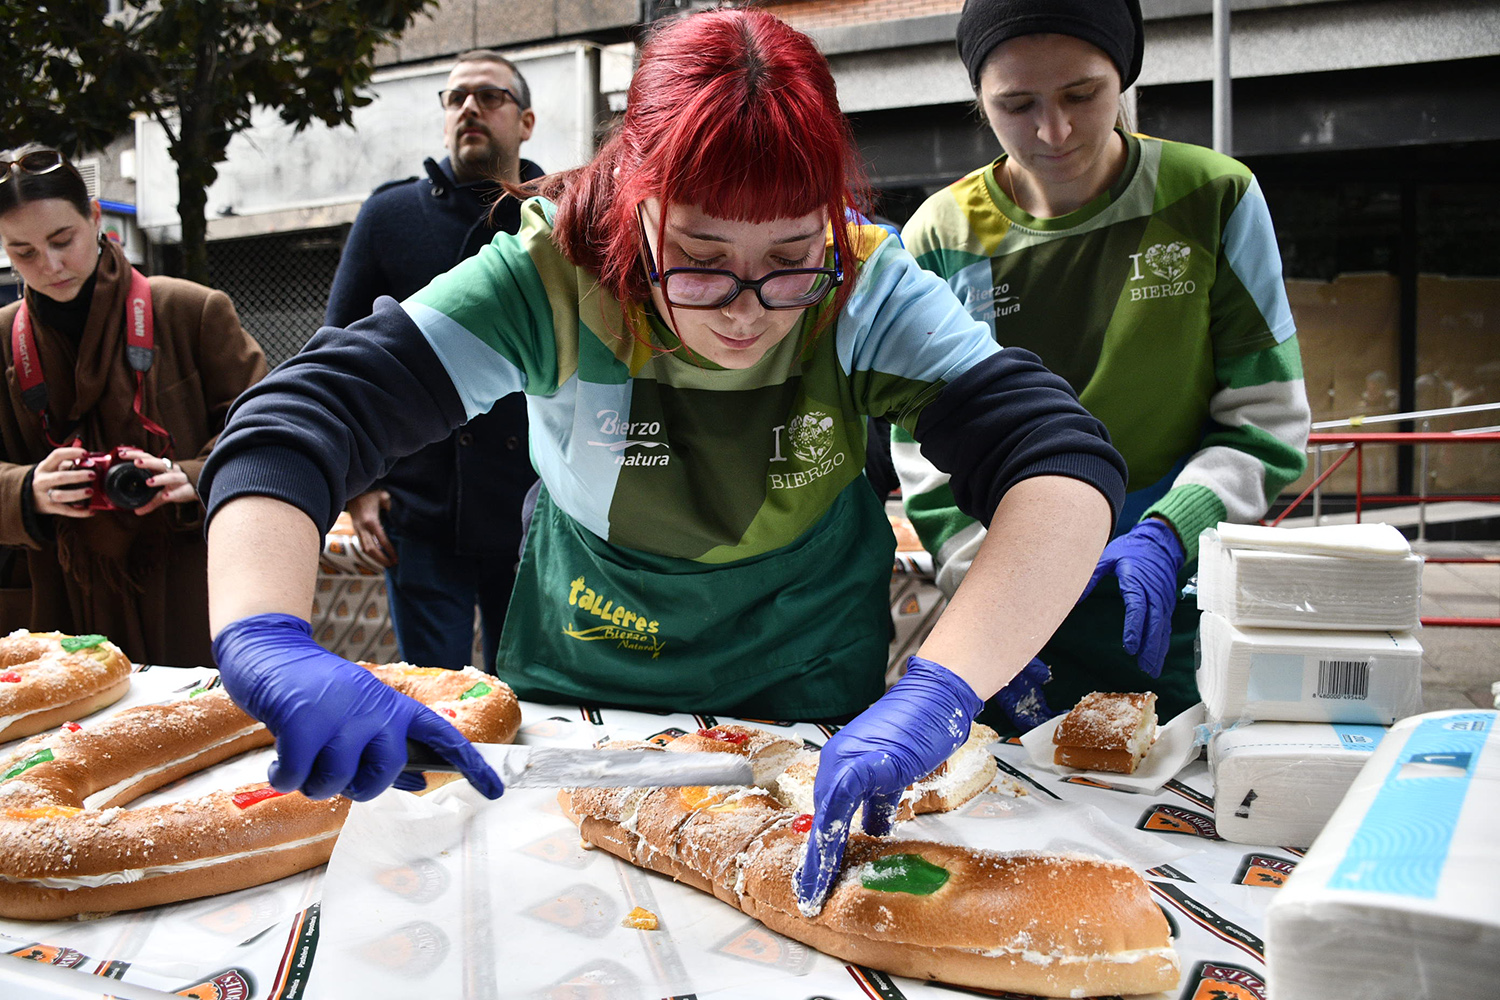
M 276 736 L 267 777 L 278 792 L 310 799 L 372 799 L 398 781 L 406 738 L 462 768 L 484 796 L 506 790 L 464 733 L 416 699 L 333 655 L 294 615 L 250 615 L 213 640 L 219 676 L 236 705 Z M 399 787 L 420 789 L 422 775 Z

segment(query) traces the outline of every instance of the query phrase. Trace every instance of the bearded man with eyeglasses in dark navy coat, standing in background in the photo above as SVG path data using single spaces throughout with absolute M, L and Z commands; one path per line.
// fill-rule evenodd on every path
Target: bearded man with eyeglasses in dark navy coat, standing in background
M 536 126 L 526 79 L 498 52 L 464 52 L 438 102 L 448 154 L 428 159 L 424 177 L 376 187 L 360 208 L 328 294 L 330 325 L 368 316 L 380 295 L 406 298 L 496 232 L 520 226 L 520 202 L 495 199 L 502 193 L 496 181 L 519 184 L 543 174 L 520 157 Z M 495 669 L 520 547 L 520 505 L 536 478 L 526 406 L 514 394 L 448 439 L 398 460 L 370 492 L 350 501 L 360 547 L 386 567 L 404 660 L 468 664 L 477 603 L 484 654 L 476 666 Z

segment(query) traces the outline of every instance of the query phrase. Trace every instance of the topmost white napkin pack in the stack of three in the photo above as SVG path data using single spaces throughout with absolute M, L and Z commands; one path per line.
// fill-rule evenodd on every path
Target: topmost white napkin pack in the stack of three
M 1408 631 L 1422 558 L 1390 525 L 1220 523 L 1198 538 L 1198 609 L 1233 625 Z

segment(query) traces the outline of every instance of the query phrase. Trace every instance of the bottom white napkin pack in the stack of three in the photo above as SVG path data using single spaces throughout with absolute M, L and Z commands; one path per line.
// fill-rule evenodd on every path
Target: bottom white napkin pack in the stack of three
M 1384 735 L 1384 726 L 1320 723 L 1256 723 L 1216 733 L 1209 768 L 1220 837 L 1306 847 Z

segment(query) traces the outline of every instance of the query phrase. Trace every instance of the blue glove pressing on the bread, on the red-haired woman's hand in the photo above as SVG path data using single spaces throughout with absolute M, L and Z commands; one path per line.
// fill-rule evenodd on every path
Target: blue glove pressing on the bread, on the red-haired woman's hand
M 816 915 L 832 888 L 849 822 L 864 807 L 864 829 L 882 837 L 902 792 L 927 775 L 969 738 L 984 702 L 952 670 L 910 657 L 906 675 L 885 696 L 834 733 L 813 783 L 813 828 L 807 858 L 796 870 L 796 906 Z

